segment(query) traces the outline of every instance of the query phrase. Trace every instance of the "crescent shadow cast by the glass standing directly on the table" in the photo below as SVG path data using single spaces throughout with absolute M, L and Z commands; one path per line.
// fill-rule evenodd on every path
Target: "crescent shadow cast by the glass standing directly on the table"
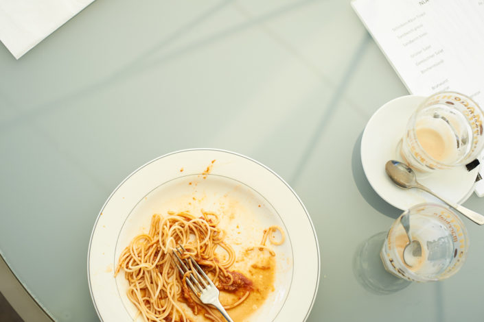
M 395 293 L 411 282 L 388 273 L 382 264 L 380 250 L 387 232 L 379 232 L 363 241 L 353 257 L 353 273 L 358 283 L 373 294 Z

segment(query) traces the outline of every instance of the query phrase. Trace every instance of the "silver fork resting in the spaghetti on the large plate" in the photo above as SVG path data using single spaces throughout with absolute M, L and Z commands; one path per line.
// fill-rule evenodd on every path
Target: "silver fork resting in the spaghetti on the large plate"
M 183 251 L 185 251 L 185 248 L 182 245 L 178 244 L 178 246 L 183 249 Z M 205 274 L 203 269 L 198 266 L 192 256 L 188 256 L 188 258 L 182 260 L 177 253 L 183 257 L 181 251 L 178 249 L 178 247 L 176 247 L 176 251 L 173 251 L 173 254 L 178 262 L 176 262 L 176 260 L 174 260 L 173 258 L 172 260 L 182 276 L 185 275 L 187 271 L 190 271 L 188 275 L 189 278 L 186 279 L 189 288 L 192 288 L 192 291 L 203 304 L 211 304 L 223 315 L 223 317 L 227 321 L 233 322 L 231 317 L 229 317 L 229 314 L 227 314 L 227 311 L 225 311 L 222 304 L 220 304 L 220 300 L 218 299 L 218 295 L 220 295 L 220 292 L 217 286 L 215 286 L 215 284 L 211 282 L 207 274 Z M 192 262 L 195 270 L 190 269 L 191 265 L 188 262 L 189 260 Z

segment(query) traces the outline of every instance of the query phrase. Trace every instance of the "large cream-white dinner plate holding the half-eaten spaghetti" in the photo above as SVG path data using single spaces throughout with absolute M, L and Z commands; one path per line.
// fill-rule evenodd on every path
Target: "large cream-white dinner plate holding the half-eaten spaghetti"
M 216 161 L 211 171 L 204 175 L 212 160 Z M 264 227 L 283 227 L 286 241 L 273 247 L 275 291 L 250 321 L 306 321 L 320 271 L 316 232 L 306 208 L 294 190 L 263 164 L 216 149 L 176 151 L 152 160 L 124 179 L 104 203 L 87 258 L 89 289 L 100 319 L 120 322 L 135 317 L 124 274 L 115 278 L 113 271 L 131 238 L 148 230 L 152 214 L 200 208 L 229 217 L 229 232 L 240 224 L 240 234 L 228 234 L 233 240 L 260 243 Z

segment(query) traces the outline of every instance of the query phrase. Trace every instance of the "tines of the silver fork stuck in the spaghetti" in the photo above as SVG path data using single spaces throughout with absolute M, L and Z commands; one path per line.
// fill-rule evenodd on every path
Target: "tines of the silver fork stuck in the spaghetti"
M 193 292 L 198 297 L 200 297 L 200 294 L 203 293 L 205 288 L 207 288 L 207 286 L 209 285 L 214 286 L 214 283 L 211 282 L 207 274 L 205 274 L 203 269 L 198 266 L 192 256 L 187 256 L 186 258 L 183 258 L 183 253 L 185 253 L 185 251 L 186 249 L 182 245 L 178 244 L 176 246 L 176 251 L 173 251 L 173 255 L 175 256 L 176 260 L 174 260 L 173 257 L 172 260 L 182 276 L 189 272 L 189 278 L 186 279 L 187 285 L 189 286 L 189 288 L 192 288 Z

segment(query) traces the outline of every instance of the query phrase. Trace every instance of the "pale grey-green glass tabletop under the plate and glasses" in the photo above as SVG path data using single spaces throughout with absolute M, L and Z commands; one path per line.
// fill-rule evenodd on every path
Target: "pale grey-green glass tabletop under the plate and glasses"
M 306 204 L 321 247 L 308 321 L 483 321 L 484 232 L 468 219 L 449 280 L 388 294 L 362 282 L 359 245 L 400 210 L 369 186 L 361 134 L 408 92 L 348 0 L 97 0 L 18 61 L 0 47 L 0 72 L 0 252 L 54 320 L 98 320 L 87 248 L 117 184 L 216 147 Z M 465 206 L 484 212 L 475 195 Z

